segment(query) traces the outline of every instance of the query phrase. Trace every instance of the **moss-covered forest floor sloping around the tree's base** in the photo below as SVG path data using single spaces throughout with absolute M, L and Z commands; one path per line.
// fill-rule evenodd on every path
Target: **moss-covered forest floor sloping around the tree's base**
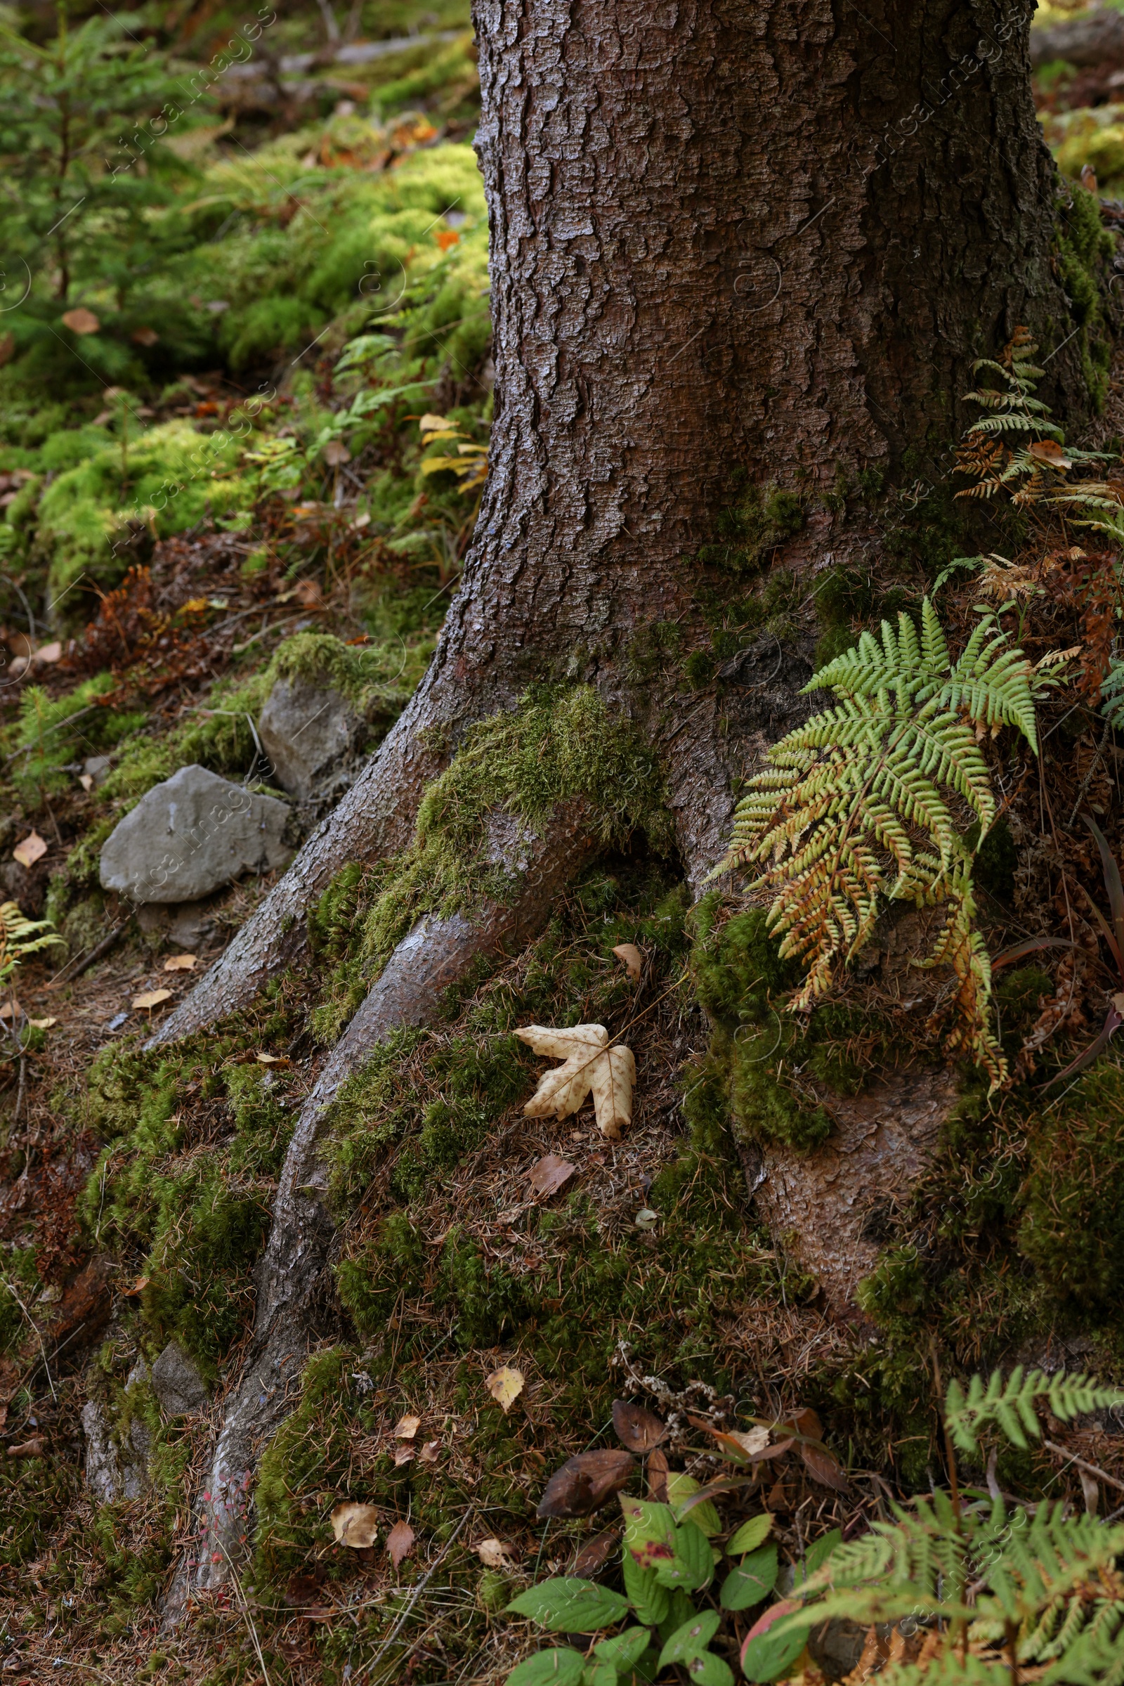
M 197 66 L 238 24 L 202 10 L 143 12 L 142 34 L 174 67 Z M 361 8 L 356 27 L 404 39 L 345 74 L 313 66 L 288 115 L 217 96 L 199 108 L 206 121 L 187 125 L 147 212 L 155 256 L 128 287 L 99 268 L 93 229 L 71 298 L 44 271 L 27 309 L 3 317 L 0 899 L 49 915 L 66 941 L 17 976 L 40 1023 L 19 1055 L 0 1044 L 0 1661 L 13 1681 L 484 1686 L 527 1644 L 502 1617 L 511 1590 L 571 1565 L 613 1514 L 534 1512 L 565 1457 L 613 1443 L 624 1393 L 718 1398 L 741 1425 L 814 1408 L 866 1504 L 878 1482 L 925 1489 L 940 1469 L 935 1362 L 1124 1374 L 1124 1069 L 1111 1045 L 1043 1087 L 1099 1028 L 1097 961 L 1065 1012 L 1057 954 L 996 975 L 1011 1062 L 1052 1012 L 1057 1042 L 1043 1037 L 991 1101 L 961 1072 L 925 1177 L 871 1217 L 880 1256 L 861 1315 L 832 1322 L 797 1246 L 760 1226 L 747 1168 L 762 1146 L 822 1145 L 834 1096 L 942 1060 L 940 991 L 903 1005 L 907 963 L 886 927 L 883 958 L 853 986 L 807 1020 L 785 1015 L 797 971 L 762 909 L 718 892 L 689 905 L 659 767 L 578 686 L 531 688 L 477 727 L 403 856 L 340 862 L 300 969 L 212 1034 L 143 1050 L 148 1010 L 131 1003 L 190 988 L 192 971 L 163 969 L 189 944 L 101 890 L 101 843 L 180 765 L 260 784 L 254 722 L 278 678 L 337 686 L 364 747 L 377 745 L 425 671 L 475 516 L 452 474 L 425 472 L 448 447 L 423 447 L 420 428 L 443 415 L 484 443 L 492 413 L 467 12 L 393 0 Z M 320 13 L 271 29 L 278 52 L 324 46 Z M 1053 120 L 1070 174 L 1094 142 L 1097 158 L 1116 157 L 1102 116 Z M 1075 189 L 1057 256 L 1109 430 L 1102 246 Z M 59 329 L 62 303 L 98 329 Z M 880 519 L 885 546 L 870 573 L 817 578 L 817 663 L 915 602 L 964 548 L 944 489 L 895 497 L 841 467 L 824 499 Z M 799 489 L 731 475 L 699 551 L 709 642 L 684 654 L 674 626 L 637 636 L 640 717 L 664 664 L 725 698 L 723 664 L 807 619 L 806 585 L 772 565 L 807 514 Z M 1067 612 L 1025 629 L 1035 656 L 1079 636 Z M 971 593 L 950 614 L 967 624 Z M 1116 762 L 1094 754 L 1100 725 L 1067 708 L 1046 710 L 1045 787 L 1026 765 L 1001 767 L 1011 799 L 977 872 L 993 949 L 1062 929 L 1080 897 L 1104 902 L 1092 845 L 1062 848 L 1046 823 L 1079 789 L 1119 819 Z M 94 772 L 91 757 L 104 759 Z M 413 917 L 502 894 L 475 870 L 490 808 L 534 819 L 575 794 L 597 809 L 600 855 L 543 934 L 480 964 L 335 1103 L 334 1334 L 290 1383 L 293 1411 L 241 1495 L 238 1580 L 165 1632 L 162 1598 L 194 1546 L 199 1472 L 249 1342 L 285 1146 L 325 1050 Z M 320 811 L 293 806 L 297 843 Z M 22 865 L 12 850 L 32 831 L 45 853 Z M 214 900 L 190 942 L 199 968 L 268 885 Z M 81 971 L 103 939 L 113 946 Z M 639 980 L 613 953 L 625 942 Z M 603 1023 L 634 1049 L 622 1141 L 588 1108 L 526 1118 L 543 1062 L 514 1030 L 533 1022 Z M 570 1168 L 541 1194 L 531 1173 L 546 1155 Z M 199 1415 L 165 1415 L 145 1374 L 170 1340 L 209 1388 Z M 524 1376 L 507 1413 L 487 1388 L 504 1364 Z M 131 1499 L 96 1504 L 84 1484 L 88 1401 L 118 1462 L 142 1472 Z M 416 1431 L 396 1435 L 411 1416 Z M 1124 1477 L 1104 1425 L 1072 1445 Z M 1080 1502 L 1048 1457 L 1011 1453 L 999 1479 Z M 789 1544 L 858 1514 L 832 1511 L 795 1460 L 763 1497 Z M 377 1509 L 372 1548 L 335 1543 L 342 1499 Z M 384 1544 L 396 1521 L 415 1534 L 399 1565 Z

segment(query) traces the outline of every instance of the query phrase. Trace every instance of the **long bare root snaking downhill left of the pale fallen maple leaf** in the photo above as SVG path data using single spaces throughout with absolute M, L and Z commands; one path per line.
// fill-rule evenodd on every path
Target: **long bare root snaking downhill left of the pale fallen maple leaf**
M 394 1030 L 430 1022 L 442 993 L 480 954 L 524 942 L 546 921 L 558 890 L 595 846 L 590 804 L 575 797 L 531 828 L 495 814 L 487 860 L 507 894 L 442 919 L 426 915 L 403 937 L 305 1101 L 285 1157 L 273 1227 L 258 1278 L 254 1349 L 227 1409 L 204 1492 L 197 1501 L 202 1549 L 184 1561 L 169 1593 L 167 1619 L 179 1620 L 192 1590 L 219 1587 L 244 1553 L 246 1494 L 258 1448 L 288 1413 L 288 1381 L 310 1345 L 325 1334 L 324 1278 L 334 1224 L 325 1204 L 320 1138 L 340 1084 Z M 497 880 L 492 878 L 492 883 Z

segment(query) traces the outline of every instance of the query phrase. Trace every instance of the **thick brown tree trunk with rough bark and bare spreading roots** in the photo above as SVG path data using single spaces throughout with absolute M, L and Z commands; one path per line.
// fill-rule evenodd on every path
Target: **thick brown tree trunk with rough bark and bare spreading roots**
M 468 723 L 536 679 L 593 683 L 647 733 L 698 889 L 721 853 L 735 781 L 809 710 L 799 690 L 817 639 L 812 575 L 878 553 L 859 475 L 945 477 L 971 361 L 1020 324 L 1057 349 L 1045 396 L 1082 415 L 1050 263 L 1055 177 L 1030 96 L 1030 13 L 994 0 L 868 10 L 477 0 L 495 423 L 463 583 L 379 754 L 155 1040 L 246 1003 L 292 961 L 339 867 L 408 841 L 443 765 L 433 744 L 455 749 Z M 723 519 L 733 504 L 740 514 Z M 728 664 L 731 683 L 693 690 L 682 661 L 709 647 L 708 604 L 745 595 L 762 570 L 797 578 L 784 646 L 762 634 Z M 588 838 L 559 824 L 551 851 L 539 914 Z M 533 924 L 524 907 L 519 931 Z M 455 966 L 495 931 L 485 919 L 470 941 L 435 924 L 408 941 L 428 978 L 447 951 Z M 286 1350 L 303 1350 L 315 1327 L 327 1219 L 315 1189 L 298 1195 L 325 1098 L 393 1023 L 428 1010 L 426 988 L 401 1012 L 388 1007 L 403 959 L 359 1010 L 298 1126 L 216 1492 L 276 1418 L 253 1401 L 268 1394 L 263 1364 L 281 1357 L 281 1322 Z M 859 1108 L 841 1123 L 844 1152 L 858 1155 L 851 1182 L 863 1182 L 864 1141 L 878 1175 L 885 1143 L 908 1158 L 912 1121 L 930 1138 L 952 1086 L 925 1082 L 913 1099 L 908 1082 L 890 1086 L 870 1128 Z M 779 1162 L 765 1172 L 790 1222 L 800 1190 Z M 827 1170 L 821 1194 L 831 1182 Z M 827 1298 L 844 1305 L 861 1231 L 844 1224 L 836 1243 L 822 1268 L 834 1249 Z M 293 1246 L 300 1280 L 275 1268 Z M 221 1517 L 212 1524 L 221 1536 Z

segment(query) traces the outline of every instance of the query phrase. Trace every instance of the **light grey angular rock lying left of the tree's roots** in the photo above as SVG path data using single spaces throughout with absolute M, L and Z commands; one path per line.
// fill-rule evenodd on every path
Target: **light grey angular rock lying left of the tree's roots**
M 136 902 L 197 902 L 243 872 L 283 867 L 288 808 L 206 767 L 153 786 L 106 838 L 101 883 Z

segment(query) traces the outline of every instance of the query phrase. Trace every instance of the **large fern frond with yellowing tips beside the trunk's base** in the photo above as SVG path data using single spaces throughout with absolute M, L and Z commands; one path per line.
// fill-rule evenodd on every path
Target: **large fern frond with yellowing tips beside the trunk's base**
M 768 750 L 735 811 L 730 848 L 715 873 L 767 863 L 752 885 L 773 890 L 770 927 L 780 953 L 809 961 L 794 1000 L 807 1007 L 839 959 L 863 948 L 881 899 L 949 904 L 927 964 L 959 981 L 954 1044 L 984 1064 L 993 1087 L 1006 1076 L 988 1023 L 991 968 L 972 927 L 971 860 L 955 797 L 982 840 L 996 808 L 977 738 L 1016 727 L 1035 752 L 1031 668 L 984 615 L 954 663 L 929 599 L 920 634 L 908 615 L 883 620 L 881 642 L 859 642 L 812 676 L 839 706 L 816 715 Z

